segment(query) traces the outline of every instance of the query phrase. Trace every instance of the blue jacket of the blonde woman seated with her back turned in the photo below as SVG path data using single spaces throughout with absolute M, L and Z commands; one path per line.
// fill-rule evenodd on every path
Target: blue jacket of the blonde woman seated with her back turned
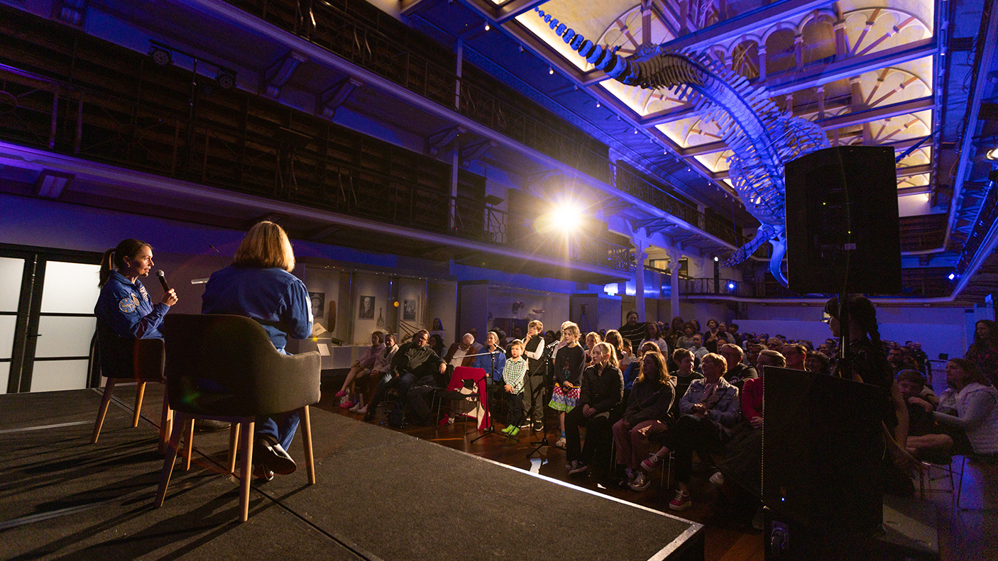
M 311 300 L 305 284 L 283 269 L 231 265 L 216 271 L 201 297 L 203 314 L 245 316 L 263 326 L 281 353 L 287 337 L 311 335 Z

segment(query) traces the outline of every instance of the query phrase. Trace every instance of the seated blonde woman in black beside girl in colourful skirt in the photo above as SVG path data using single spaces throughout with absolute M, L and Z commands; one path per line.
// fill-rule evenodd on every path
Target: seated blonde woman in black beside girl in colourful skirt
M 609 343 L 597 343 L 590 355 L 593 363 L 582 374 L 579 402 L 565 416 L 565 457 L 569 461 L 565 468 L 569 474 L 588 469 L 598 449 L 604 449 L 609 459 L 610 413 L 624 399 L 624 377 L 613 347 Z M 584 446 L 579 443 L 580 425 L 586 426 Z

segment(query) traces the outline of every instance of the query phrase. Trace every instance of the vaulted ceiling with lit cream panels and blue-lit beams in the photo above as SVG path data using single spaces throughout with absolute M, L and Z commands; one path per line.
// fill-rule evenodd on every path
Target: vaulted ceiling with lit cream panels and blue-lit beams
M 609 138 L 617 155 L 732 217 L 755 223 L 732 188 L 718 124 L 673 90 L 596 70 L 546 22 L 642 57 L 657 46 L 706 53 L 831 145 L 890 145 L 905 268 L 953 281 L 993 252 L 982 208 L 994 186 L 998 50 L 994 0 L 407 0 L 402 17 L 458 40 L 493 73 Z M 550 20 L 550 18 L 549 18 Z M 993 176 L 992 176 L 993 178 Z M 925 224 L 932 224 L 926 231 Z M 967 253 L 975 228 L 985 230 Z M 984 239 L 987 238 L 987 239 Z M 976 269 L 975 269 L 976 270 Z M 955 287 L 954 287 L 955 288 Z M 960 288 L 963 288 L 962 286 Z M 980 291 L 978 291 L 980 292 Z M 975 293 L 973 298 L 983 293 Z

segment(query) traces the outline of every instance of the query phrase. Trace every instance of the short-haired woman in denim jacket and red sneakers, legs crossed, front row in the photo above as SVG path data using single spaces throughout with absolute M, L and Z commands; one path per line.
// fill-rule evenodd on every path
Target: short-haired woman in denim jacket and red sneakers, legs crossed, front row
M 641 462 L 643 469 L 652 471 L 671 451 L 676 453 L 676 498 L 669 503 L 673 510 L 693 506 L 689 484 L 694 450 L 702 461 L 709 461 L 709 450 L 728 441 L 742 415 L 739 389 L 725 380 L 725 358 L 709 353 L 703 366 L 704 379 L 694 381 L 680 400 L 681 417 L 666 432 L 665 445 Z

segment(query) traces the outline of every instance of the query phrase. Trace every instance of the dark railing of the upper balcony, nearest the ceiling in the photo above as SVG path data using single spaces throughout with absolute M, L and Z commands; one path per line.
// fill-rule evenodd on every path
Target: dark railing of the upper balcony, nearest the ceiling
M 353 64 L 398 84 L 410 92 L 441 106 L 454 108 L 457 83 L 456 57 L 442 51 L 429 39 L 417 36 L 404 24 L 378 13 L 367 19 L 359 10 L 375 10 L 363 3 L 345 9 L 341 2 L 301 2 L 300 0 L 227 0 L 261 19 L 319 45 Z M 302 17 L 311 5 L 311 17 Z M 397 37 L 406 36 L 419 44 L 405 44 Z M 438 52 L 439 57 L 422 53 Z M 556 119 L 520 94 L 506 96 L 496 92 L 505 86 L 490 83 L 477 73 L 466 72 L 461 78 L 457 113 L 516 140 L 558 161 L 579 169 L 591 177 L 614 184 L 617 188 L 652 204 L 733 245 L 744 243 L 744 236 L 724 221 L 707 217 L 696 206 L 683 202 L 638 175 L 613 165 L 607 146 L 565 122 Z M 521 98 L 522 102 L 516 101 Z M 533 111 L 530 111 L 533 110 Z M 557 124 L 558 126 L 553 126 Z

